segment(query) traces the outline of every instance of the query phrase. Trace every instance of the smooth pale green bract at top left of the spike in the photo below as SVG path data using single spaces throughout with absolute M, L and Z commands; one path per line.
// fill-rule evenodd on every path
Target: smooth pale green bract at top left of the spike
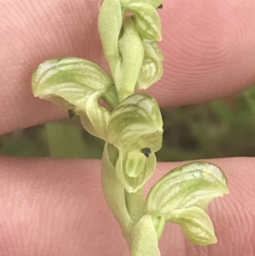
M 120 54 L 118 40 L 122 28 L 122 6 L 120 0 L 105 0 L 99 9 L 99 36 L 105 58 L 114 74 Z

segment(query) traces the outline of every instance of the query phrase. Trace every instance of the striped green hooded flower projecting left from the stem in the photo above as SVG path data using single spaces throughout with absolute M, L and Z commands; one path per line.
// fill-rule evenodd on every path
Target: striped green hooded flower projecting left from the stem
M 110 113 L 98 100 L 113 82 L 99 65 L 75 57 L 47 60 L 38 65 L 31 82 L 36 97 L 73 110 L 90 134 L 105 139 Z

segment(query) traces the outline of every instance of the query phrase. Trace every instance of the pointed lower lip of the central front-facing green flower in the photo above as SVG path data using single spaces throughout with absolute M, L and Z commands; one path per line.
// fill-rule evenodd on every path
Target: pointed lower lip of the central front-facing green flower
M 128 193 L 135 193 L 150 179 L 156 168 L 156 156 L 141 151 L 120 151 L 116 162 L 116 176 Z

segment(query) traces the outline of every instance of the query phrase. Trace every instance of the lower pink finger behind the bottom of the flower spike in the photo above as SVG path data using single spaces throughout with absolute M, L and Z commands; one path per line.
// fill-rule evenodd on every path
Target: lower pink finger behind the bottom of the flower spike
M 162 256 L 254 255 L 255 159 L 211 162 L 224 169 L 230 190 L 207 211 L 218 243 L 192 245 L 170 224 L 161 238 Z M 150 185 L 178 164 L 160 163 Z M 128 256 L 102 195 L 99 161 L 3 156 L 0 176 L 0 255 Z

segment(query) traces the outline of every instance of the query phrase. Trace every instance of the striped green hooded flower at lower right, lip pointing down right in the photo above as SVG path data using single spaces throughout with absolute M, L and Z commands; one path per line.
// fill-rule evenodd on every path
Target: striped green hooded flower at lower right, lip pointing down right
M 209 162 L 191 162 L 156 182 L 147 196 L 146 209 L 159 237 L 170 221 L 182 227 L 190 242 L 208 245 L 217 238 L 205 209 L 213 198 L 228 193 L 227 179 L 220 168 Z

